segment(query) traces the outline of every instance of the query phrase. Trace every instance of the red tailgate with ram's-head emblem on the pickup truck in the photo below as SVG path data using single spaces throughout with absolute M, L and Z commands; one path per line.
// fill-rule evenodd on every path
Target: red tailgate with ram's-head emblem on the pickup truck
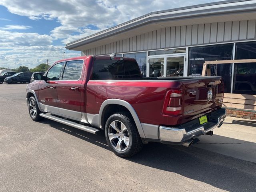
M 222 106 L 224 96 L 222 77 L 200 77 L 182 80 L 182 84 L 184 121 L 192 120 Z

